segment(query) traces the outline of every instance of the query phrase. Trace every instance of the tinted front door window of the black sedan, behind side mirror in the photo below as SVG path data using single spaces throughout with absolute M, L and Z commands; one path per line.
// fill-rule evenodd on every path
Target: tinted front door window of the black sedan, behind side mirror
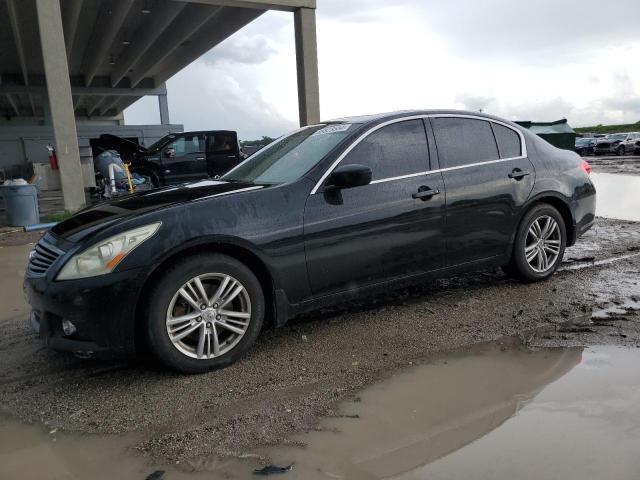
M 428 170 L 429 148 L 422 120 L 407 120 L 382 127 L 362 140 L 341 164 L 371 168 L 373 180 Z

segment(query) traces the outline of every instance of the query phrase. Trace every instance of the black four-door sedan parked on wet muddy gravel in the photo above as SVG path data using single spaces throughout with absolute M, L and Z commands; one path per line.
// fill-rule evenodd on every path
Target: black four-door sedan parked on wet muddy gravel
M 345 118 L 202 181 L 87 208 L 36 245 L 31 322 L 55 350 L 236 361 L 262 326 L 377 289 L 502 266 L 549 278 L 594 222 L 589 165 L 459 111 Z

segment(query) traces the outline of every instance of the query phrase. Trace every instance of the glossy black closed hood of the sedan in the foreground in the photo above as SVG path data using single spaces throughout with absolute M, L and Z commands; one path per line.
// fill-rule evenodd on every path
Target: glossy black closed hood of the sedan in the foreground
M 241 182 L 204 180 L 175 187 L 134 193 L 133 195 L 127 195 L 85 208 L 73 217 L 54 226 L 51 232 L 64 240 L 79 242 L 114 223 L 155 210 L 166 209 L 194 200 L 233 195 L 249 189 L 257 190 L 266 186 Z

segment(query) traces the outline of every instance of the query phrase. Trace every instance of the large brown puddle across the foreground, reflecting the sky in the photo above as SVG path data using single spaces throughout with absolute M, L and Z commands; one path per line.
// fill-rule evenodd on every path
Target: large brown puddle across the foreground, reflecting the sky
M 269 458 L 293 464 L 283 479 L 637 480 L 640 348 L 510 343 L 408 367 L 291 439 L 304 446 L 201 459 L 191 463 L 196 473 L 159 468 L 166 480 L 248 479 L 259 478 L 258 458 Z M 0 433 L 3 479 L 143 480 L 157 469 L 127 452 L 131 438 L 60 435 L 6 419 Z

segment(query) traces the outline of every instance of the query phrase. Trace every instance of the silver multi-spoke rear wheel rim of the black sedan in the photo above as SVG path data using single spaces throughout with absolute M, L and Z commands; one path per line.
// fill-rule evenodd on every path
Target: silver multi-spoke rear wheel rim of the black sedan
M 524 256 L 536 273 L 546 273 L 551 270 L 560 255 L 562 237 L 560 226 L 549 215 L 536 218 L 525 240 Z

